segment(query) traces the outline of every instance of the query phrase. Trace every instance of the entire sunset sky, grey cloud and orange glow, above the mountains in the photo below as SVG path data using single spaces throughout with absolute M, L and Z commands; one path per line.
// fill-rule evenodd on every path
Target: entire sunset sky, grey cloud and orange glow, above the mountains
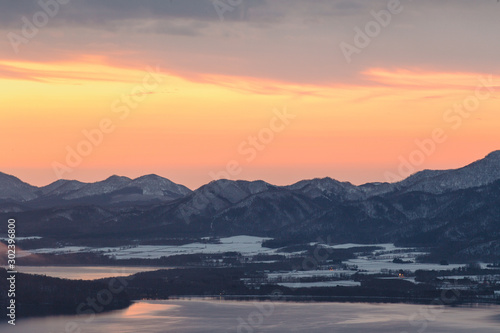
M 0 1 L 0 171 L 397 181 L 500 149 L 500 3 Z

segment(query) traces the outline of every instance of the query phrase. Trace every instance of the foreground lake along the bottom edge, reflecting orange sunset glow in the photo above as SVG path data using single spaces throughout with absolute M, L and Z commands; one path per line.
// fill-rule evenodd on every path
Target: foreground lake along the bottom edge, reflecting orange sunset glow
M 408 304 L 139 301 L 95 317 L 69 316 L 0 324 L 4 333 L 120 332 L 500 332 L 499 306 Z M 66 330 L 65 330 L 66 328 Z

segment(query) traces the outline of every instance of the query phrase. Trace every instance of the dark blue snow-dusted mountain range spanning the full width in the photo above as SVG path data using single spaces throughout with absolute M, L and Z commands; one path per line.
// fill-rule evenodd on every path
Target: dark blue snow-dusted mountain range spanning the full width
M 246 234 L 276 244 L 328 237 L 428 246 L 447 258 L 498 259 L 499 204 L 500 151 L 460 169 L 360 186 L 331 178 L 289 186 L 222 179 L 191 191 L 147 175 L 35 187 L 0 173 L 0 215 L 16 216 L 18 236 L 66 245 Z

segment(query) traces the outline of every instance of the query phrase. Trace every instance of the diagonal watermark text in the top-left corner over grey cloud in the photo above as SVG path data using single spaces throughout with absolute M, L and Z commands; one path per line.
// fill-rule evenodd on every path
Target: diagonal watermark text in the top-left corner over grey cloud
M 35 12 L 31 18 L 27 16 L 21 17 L 21 28 L 19 31 L 10 31 L 7 33 L 7 39 L 14 52 L 16 54 L 19 53 L 19 47 L 28 44 L 34 39 L 40 32 L 40 29 L 47 26 L 50 20 L 59 14 L 61 6 L 67 5 L 69 2 L 70 0 L 39 0 L 37 4 L 40 10 Z

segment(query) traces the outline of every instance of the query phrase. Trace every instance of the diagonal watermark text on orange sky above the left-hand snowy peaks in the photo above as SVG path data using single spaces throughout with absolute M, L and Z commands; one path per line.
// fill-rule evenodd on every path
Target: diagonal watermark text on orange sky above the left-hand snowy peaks
M 111 103 L 111 112 L 118 116 L 119 121 L 124 121 L 133 110 L 139 107 L 141 102 L 158 89 L 163 80 L 159 66 L 147 67 L 142 82 L 134 86 L 128 94 L 123 93 L 120 98 Z M 64 161 L 52 162 L 52 170 L 56 177 L 61 179 L 65 174 L 79 167 L 84 158 L 90 156 L 94 149 L 104 142 L 106 135 L 115 131 L 119 121 L 105 117 L 94 128 L 82 130 L 83 138 L 74 146 L 66 146 Z

